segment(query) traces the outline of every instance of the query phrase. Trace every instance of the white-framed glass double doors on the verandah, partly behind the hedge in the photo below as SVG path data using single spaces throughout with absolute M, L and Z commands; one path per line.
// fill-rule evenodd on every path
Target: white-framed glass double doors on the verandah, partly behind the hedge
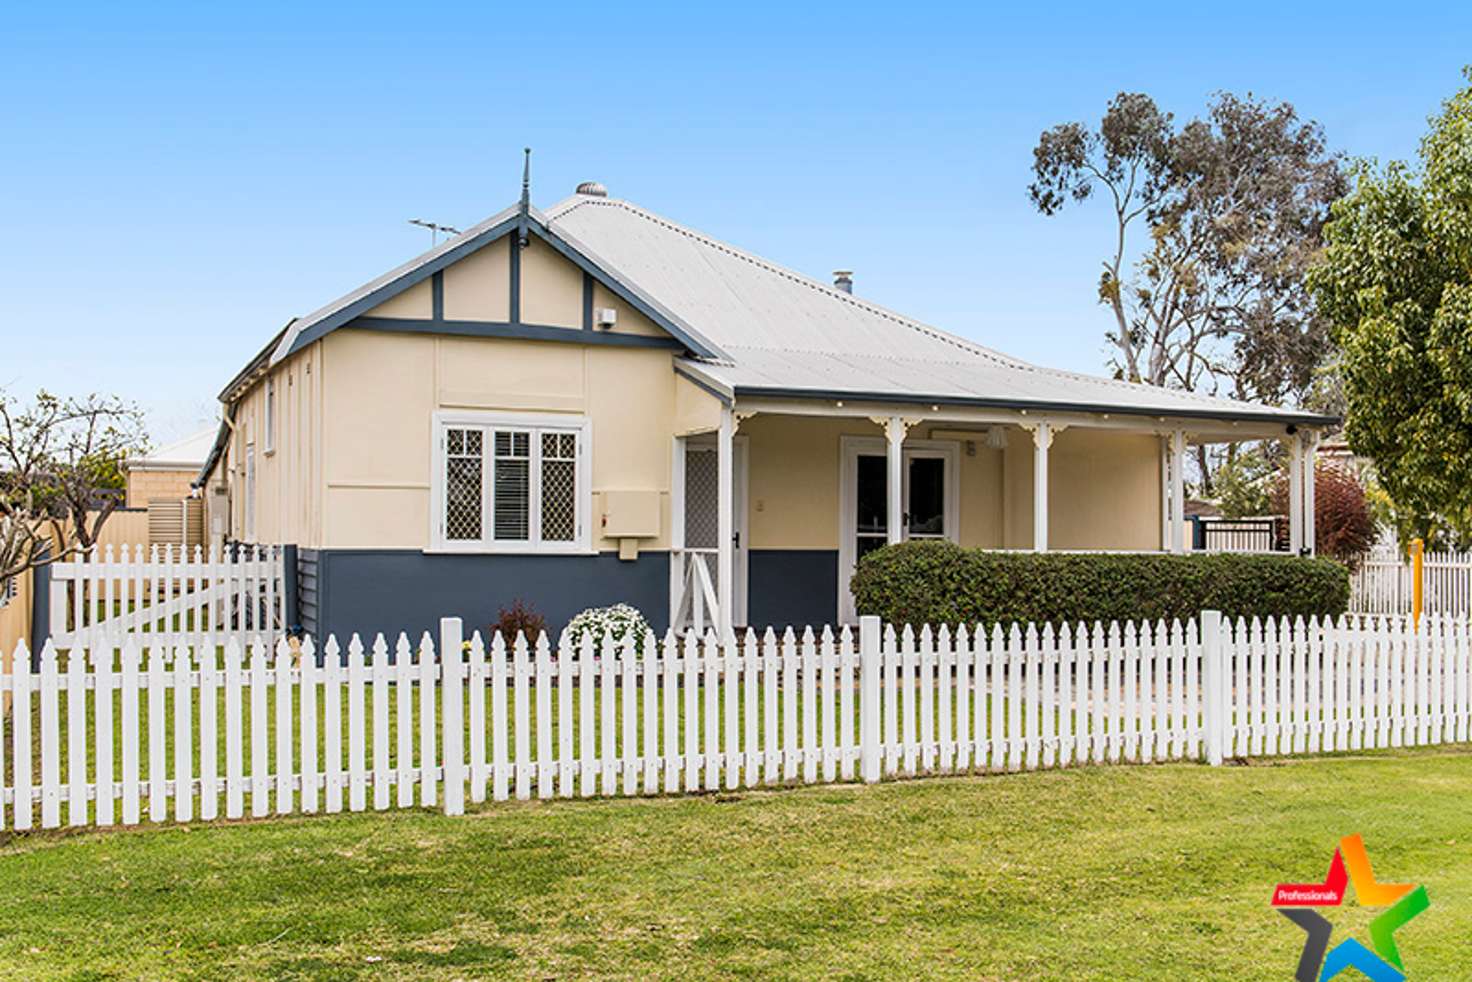
M 939 440 L 911 440 L 904 446 L 901 467 L 899 537 L 958 537 L 955 445 Z M 839 617 L 855 620 L 854 595 L 848 589 L 861 558 L 889 542 L 886 498 L 889 465 L 885 442 L 843 439 L 843 487 L 839 540 Z

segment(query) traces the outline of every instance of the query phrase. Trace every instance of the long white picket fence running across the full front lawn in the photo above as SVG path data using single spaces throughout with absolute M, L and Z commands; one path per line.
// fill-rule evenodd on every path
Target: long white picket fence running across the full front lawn
M 1469 738 L 1463 618 L 811 630 L 720 643 L 440 626 L 322 657 L 18 648 L 0 827 L 657 795 Z M 467 651 L 468 649 L 468 651 Z M 65 661 L 65 664 L 62 664 Z M 9 736 L 9 741 L 6 739 Z M 9 776 L 9 779 L 7 779 Z

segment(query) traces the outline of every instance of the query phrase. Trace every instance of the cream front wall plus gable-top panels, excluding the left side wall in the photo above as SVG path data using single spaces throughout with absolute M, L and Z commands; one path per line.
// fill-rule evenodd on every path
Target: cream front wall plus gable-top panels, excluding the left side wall
M 534 236 L 520 262 L 523 322 L 581 330 L 583 271 Z M 509 239 L 445 269 L 446 318 L 505 321 L 509 272 Z M 593 303 L 618 311 L 615 334 L 662 334 L 601 286 Z M 680 427 L 714 428 L 720 420 L 720 403 L 676 375 L 668 349 L 352 328 L 319 343 L 319 545 L 328 548 L 428 546 L 437 409 L 586 415 L 595 548 L 618 548 L 598 534 L 608 490 L 658 495 L 659 536 L 639 545 L 668 548 L 671 437 L 689 431 Z

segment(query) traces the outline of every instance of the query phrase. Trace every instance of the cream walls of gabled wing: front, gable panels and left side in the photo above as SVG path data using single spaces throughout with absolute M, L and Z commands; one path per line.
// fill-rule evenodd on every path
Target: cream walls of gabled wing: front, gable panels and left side
M 443 271 L 447 319 L 509 319 L 509 241 Z M 427 319 L 431 289 L 425 280 L 369 315 Z M 595 306 L 618 311 L 612 333 L 662 334 L 602 287 Z M 521 315 L 527 324 L 570 331 L 583 325 L 583 271 L 534 236 L 521 253 Z M 665 548 L 676 414 L 704 428 L 720 418 L 714 398 L 674 374 L 671 352 L 652 347 L 343 328 L 274 367 L 271 378 L 275 451 L 265 451 L 265 383 L 258 380 L 237 403 L 216 480 L 230 489 L 230 534 L 243 539 L 246 445 L 253 443 L 255 540 L 309 548 L 425 548 L 431 415 L 452 408 L 586 414 L 593 421 L 595 533 L 602 490 L 655 492 L 661 536 L 640 546 Z M 595 545 L 618 543 L 595 534 Z

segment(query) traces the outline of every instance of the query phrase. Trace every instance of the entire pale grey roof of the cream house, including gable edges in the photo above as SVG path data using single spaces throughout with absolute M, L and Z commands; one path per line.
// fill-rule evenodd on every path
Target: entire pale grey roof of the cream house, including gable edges
M 630 202 L 576 194 L 508 208 L 293 319 L 222 395 L 509 234 L 531 234 L 683 346 L 677 367 L 721 396 L 870 399 L 1329 425 L 1332 417 L 1033 365 L 786 269 Z M 268 353 L 269 352 L 269 353 Z M 208 470 L 208 468 L 206 468 Z

